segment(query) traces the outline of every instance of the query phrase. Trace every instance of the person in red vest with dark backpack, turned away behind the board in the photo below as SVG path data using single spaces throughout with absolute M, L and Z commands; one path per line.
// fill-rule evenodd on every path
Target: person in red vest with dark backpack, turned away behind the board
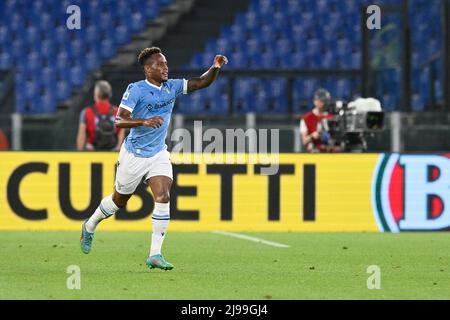
M 118 107 L 111 105 L 112 88 L 107 81 L 98 81 L 94 88 L 94 105 L 83 109 L 78 127 L 77 149 L 119 151 L 125 130 L 116 128 Z

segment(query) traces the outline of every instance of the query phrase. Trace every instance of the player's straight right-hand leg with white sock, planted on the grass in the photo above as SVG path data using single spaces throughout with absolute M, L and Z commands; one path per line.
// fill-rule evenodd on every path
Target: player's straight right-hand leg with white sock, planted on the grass
M 147 265 L 150 268 L 171 270 L 173 265 L 165 261 L 161 248 L 170 222 L 170 188 L 172 179 L 167 176 L 154 176 L 148 180 L 155 200 L 152 213 L 152 243 Z

